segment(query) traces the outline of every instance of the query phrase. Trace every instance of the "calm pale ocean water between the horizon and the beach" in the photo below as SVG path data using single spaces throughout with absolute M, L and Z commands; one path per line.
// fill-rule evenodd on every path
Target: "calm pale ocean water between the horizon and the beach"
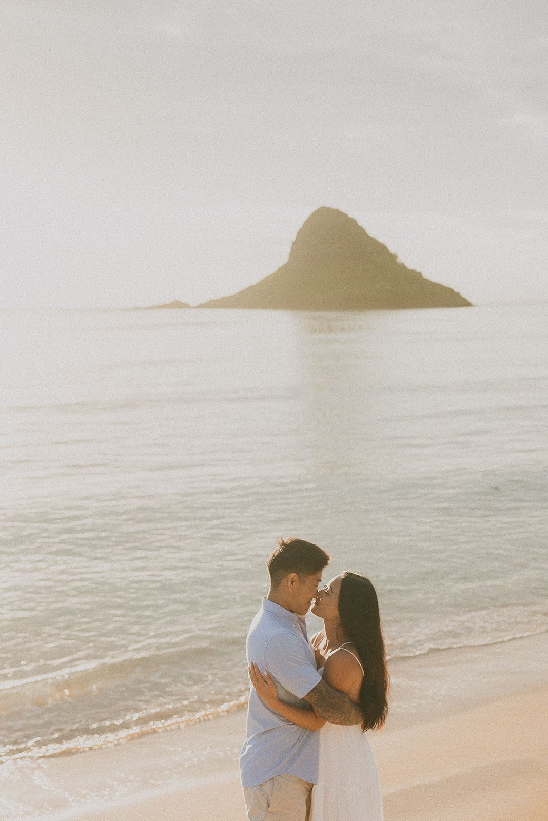
M 547 314 L 0 314 L 0 759 L 242 704 L 281 535 L 390 658 L 548 631 Z

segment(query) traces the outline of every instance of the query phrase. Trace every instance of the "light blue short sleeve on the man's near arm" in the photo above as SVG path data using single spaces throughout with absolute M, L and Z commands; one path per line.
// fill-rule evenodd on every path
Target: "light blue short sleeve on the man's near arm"
M 272 636 L 264 653 L 267 671 L 285 690 L 302 699 L 322 681 L 303 642 L 289 631 Z

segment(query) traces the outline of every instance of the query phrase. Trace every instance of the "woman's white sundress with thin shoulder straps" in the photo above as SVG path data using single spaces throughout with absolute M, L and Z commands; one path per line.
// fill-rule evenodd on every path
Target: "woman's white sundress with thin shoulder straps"
M 346 650 L 342 646 L 337 649 Z M 351 650 L 346 652 L 362 667 Z M 320 667 L 318 672 L 322 670 Z M 310 821 L 384 821 L 377 764 L 367 734 L 359 724 L 343 727 L 329 722 L 319 733 Z

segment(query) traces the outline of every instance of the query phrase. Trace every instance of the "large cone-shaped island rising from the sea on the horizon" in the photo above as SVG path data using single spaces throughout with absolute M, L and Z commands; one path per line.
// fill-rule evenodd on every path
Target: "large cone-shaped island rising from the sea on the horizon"
M 452 288 L 401 263 L 348 214 L 319 208 L 297 232 L 277 271 L 199 308 L 376 310 L 471 305 Z

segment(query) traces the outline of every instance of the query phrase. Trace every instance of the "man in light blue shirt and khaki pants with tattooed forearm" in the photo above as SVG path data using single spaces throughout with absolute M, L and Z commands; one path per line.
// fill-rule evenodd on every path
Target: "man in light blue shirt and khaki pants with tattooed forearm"
M 317 672 L 304 616 L 330 556 L 303 539 L 280 539 L 268 559 L 270 589 L 253 618 L 246 642 L 248 664 L 258 664 L 290 704 L 312 704 L 333 724 L 358 724 L 357 704 Z M 306 821 L 317 780 L 317 732 L 298 727 L 251 689 L 240 773 L 249 821 Z

